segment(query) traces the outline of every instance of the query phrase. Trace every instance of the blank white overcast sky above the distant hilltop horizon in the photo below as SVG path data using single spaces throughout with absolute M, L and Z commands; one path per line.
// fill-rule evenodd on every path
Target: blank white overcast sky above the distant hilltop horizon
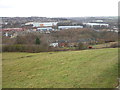
M 0 17 L 117 16 L 119 0 L 0 0 Z

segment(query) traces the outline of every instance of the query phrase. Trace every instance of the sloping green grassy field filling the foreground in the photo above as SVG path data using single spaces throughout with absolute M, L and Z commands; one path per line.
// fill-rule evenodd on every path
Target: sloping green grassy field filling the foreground
M 117 50 L 3 53 L 3 88 L 114 88 Z

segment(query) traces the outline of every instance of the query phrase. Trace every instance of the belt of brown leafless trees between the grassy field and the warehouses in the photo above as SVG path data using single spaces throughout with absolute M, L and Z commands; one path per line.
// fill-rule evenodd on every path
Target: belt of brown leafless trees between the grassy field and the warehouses
M 52 42 L 64 40 L 74 42 L 81 39 L 94 38 L 98 43 L 117 41 L 118 34 L 115 32 L 97 32 L 90 29 L 69 29 L 52 31 L 50 34 L 31 32 L 20 34 L 15 38 L 3 36 L 3 51 L 41 52 L 51 51 L 58 48 L 49 47 Z M 91 42 L 90 44 L 95 44 Z M 82 43 L 78 44 L 78 49 L 84 49 Z

